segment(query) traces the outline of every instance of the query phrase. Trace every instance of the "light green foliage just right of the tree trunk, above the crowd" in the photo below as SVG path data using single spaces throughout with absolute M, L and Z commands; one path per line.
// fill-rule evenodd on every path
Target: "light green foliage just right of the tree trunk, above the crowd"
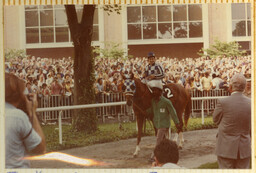
M 102 49 L 100 47 L 95 47 L 93 52 L 96 53 L 98 56 L 96 58 L 111 58 L 111 59 L 119 59 L 124 58 L 127 59 L 130 56 L 126 56 L 126 51 L 124 48 L 121 47 L 120 43 L 114 42 L 105 42 L 105 48 Z

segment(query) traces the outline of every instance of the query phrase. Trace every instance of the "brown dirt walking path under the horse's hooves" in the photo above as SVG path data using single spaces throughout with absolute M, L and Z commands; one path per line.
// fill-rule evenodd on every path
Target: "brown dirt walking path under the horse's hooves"
M 184 133 L 185 144 L 180 150 L 178 165 L 185 168 L 196 168 L 204 163 L 215 162 L 215 137 L 217 129 L 198 130 Z M 108 163 L 104 166 L 85 167 L 60 161 L 31 161 L 32 168 L 150 168 L 148 162 L 153 151 L 155 137 L 143 137 L 141 151 L 133 158 L 136 139 L 121 140 L 97 144 L 88 147 L 63 150 L 61 152 L 77 157 L 90 158 Z

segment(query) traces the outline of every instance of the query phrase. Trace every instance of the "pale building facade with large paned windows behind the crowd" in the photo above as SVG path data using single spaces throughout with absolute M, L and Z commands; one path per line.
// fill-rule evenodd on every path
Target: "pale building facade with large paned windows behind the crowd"
M 76 10 L 81 20 L 83 6 Z M 153 51 L 157 56 L 194 58 L 215 39 L 237 41 L 250 53 L 250 3 L 122 5 L 120 15 L 108 15 L 101 6 L 95 10 L 92 45 L 121 43 L 134 57 Z M 4 48 L 40 57 L 73 56 L 64 6 L 5 6 Z

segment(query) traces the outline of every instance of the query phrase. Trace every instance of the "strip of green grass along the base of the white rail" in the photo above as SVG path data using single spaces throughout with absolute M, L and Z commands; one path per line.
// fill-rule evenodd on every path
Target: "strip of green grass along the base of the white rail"
M 122 124 L 122 130 L 119 129 L 119 124 L 99 124 L 98 130 L 93 134 L 85 134 L 76 132 L 71 129 L 70 125 L 62 126 L 63 144 L 59 144 L 59 131 L 57 125 L 42 126 L 47 144 L 47 151 L 63 150 L 75 147 L 89 146 L 98 143 L 118 141 L 121 139 L 129 139 L 137 137 L 136 123 L 128 122 Z M 172 132 L 176 131 L 172 122 Z M 216 125 L 212 122 L 211 117 L 205 118 L 205 123 L 202 125 L 201 118 L 189 119 L 187 130 L 199 130 L 215 128 Z M 147 122 L 144 136 L 154 135 L 154 130 L 151 124 Z

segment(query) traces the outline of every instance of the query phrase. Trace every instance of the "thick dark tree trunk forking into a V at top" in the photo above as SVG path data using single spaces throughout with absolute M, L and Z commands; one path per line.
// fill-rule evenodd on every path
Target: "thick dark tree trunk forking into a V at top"
M 84 5 L 80 23 L 78 23 L 74 5 L 65 5 L 65 9 L 75 50 L 74 104 L 91 104 L 95 100 L 94 58 L 91 48 L 95 5 Z M 97 129 L 94 109 L 75 110 L 72 126 L 78 131 L 94 132 Z

